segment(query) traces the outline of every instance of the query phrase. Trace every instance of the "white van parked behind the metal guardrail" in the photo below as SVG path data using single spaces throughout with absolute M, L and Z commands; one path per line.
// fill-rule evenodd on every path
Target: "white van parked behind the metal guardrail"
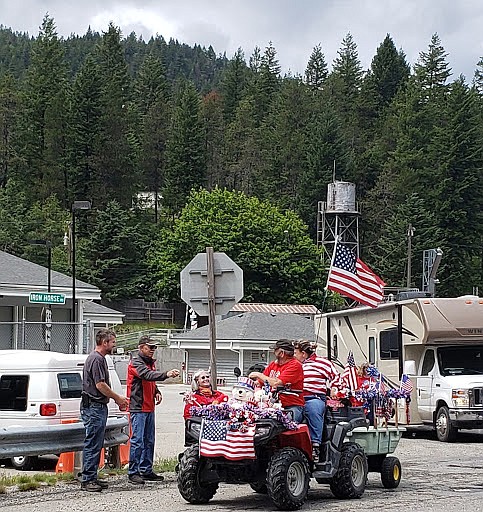
M 37 427 L 79 421 L 82 370 L 87 355 L 41 350 L 0 350 L 0 427 Z M 123 394 L 112 359 L 106 357 L 111 387 Z M 110 400 L 109 416 L 124 416 Z M 14 457 L 18 469 L 35 456 Z

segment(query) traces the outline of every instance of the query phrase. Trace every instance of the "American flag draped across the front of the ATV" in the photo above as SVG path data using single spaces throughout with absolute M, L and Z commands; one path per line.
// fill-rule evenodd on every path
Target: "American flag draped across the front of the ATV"
M 204 457 L 225 457 L 229 460 L 254 459 L 253 436 L 255 426 L 246 432 L 230 430 L 226 421 L 203 419 L 200 435 L 200 455 Z

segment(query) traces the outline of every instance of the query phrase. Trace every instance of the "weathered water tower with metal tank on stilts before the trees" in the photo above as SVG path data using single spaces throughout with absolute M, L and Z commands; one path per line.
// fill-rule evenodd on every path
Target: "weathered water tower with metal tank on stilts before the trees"
M 359 217 L 354 183 L 329 183 L 327 202 L 319 201 L 317 209 L 317 246 L 324 249 L 325 261 L 332 258 L 337 236 L 359 257 Z

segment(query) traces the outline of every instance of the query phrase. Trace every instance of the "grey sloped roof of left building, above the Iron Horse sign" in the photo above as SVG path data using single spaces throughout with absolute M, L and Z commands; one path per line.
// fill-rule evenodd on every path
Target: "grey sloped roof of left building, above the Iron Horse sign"
M 30 291 L 47 291 L 48 269 L 37 263 L 0 251 L 0 289 L 6 296 L 28 295 Z M 100 290 L 76 279 L 79 298 L 100 299 Z M 51 291 L 72 297 L 72 278 L 55 270 L 51 271 Z

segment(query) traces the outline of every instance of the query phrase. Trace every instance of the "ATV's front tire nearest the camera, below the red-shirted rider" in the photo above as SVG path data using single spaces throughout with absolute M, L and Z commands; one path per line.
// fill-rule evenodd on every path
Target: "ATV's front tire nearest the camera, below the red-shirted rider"
M 303 452 L 282 448 L 268 464 L 268 495 L 280 510 L 299 509 L 307 499 L 309 479 L 309 464 Z

